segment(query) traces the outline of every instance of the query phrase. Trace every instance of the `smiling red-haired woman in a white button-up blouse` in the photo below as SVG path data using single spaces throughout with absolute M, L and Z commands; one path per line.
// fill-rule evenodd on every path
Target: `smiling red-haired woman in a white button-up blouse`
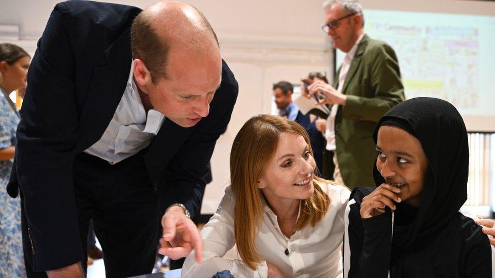
M 230 155 L 231 185 L 201 231 L 203 262 L 192 253 L 183 277 L 340 277 L 349 190 L 314 175 L 304 129 L 286 118 L 260 115 L 237 134 Z M 223 256 L 236 245 L 238 256 Z

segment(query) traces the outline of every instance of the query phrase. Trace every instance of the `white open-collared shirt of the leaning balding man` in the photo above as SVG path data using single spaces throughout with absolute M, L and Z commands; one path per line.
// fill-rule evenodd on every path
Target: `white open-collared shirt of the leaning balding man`
M 107 130 L 100 140 L 84 151 L 112 165 L 146 148 L 165 120 L 165 116 L 155 109 L 150 109 L 146 115 L 134 83 L 133 67 L 134 63 L 131 63 L 124 95 Z

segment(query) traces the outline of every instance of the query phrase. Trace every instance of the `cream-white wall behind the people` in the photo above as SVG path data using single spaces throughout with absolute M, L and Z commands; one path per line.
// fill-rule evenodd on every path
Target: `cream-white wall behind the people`
M 45 27 L 54 0 L 0 0 L 0 24 L 20 26 L 29 52 Z M 154 0 L 107 1 L 145 8 Z M 271 86 L 298 83 L 309 71 L 332 74 L 331 46 L 320 27 L 321 0 L 191 0 L 217 31 L 222 56 L 238 82 L 239 97 L 227 132 L 212 158 L 214 181 L 206 187 L 202 213 L 213 213 L 229 183 L 229 155 L 235 134 L 249 117 L 270 113 Z M 495 3 L 458 0 L 362 0 L 368 9 L 493 15 Z M 365 11 L 366 15 L 366 11 Z M 1 42 L 1 41 L 0 41 Z

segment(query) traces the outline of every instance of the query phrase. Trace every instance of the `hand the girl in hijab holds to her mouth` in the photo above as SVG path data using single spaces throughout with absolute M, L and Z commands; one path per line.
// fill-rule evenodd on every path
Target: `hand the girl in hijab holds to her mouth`
M 363 198 L 361 203 L 361 218 L 371 218 L 378 216 L 385 212 L 385 206 L 389 207 L 391 210 L 395 211 L 397 203 L 401 202 L 401 198 L 397 196 L 401 192 L 400 188 L 393 185 L 382 183 L 378 188 L 371 192 L 368 196 Z

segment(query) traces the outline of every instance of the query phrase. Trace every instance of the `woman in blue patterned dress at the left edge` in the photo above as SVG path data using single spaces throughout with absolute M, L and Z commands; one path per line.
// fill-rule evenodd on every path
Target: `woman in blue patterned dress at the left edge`
M 0 277 L 25 277 L 19 197 L 7 194 L 19 112 L 9 93 L 27 85 L 30 56 L 12 44 L 0 44 Z

